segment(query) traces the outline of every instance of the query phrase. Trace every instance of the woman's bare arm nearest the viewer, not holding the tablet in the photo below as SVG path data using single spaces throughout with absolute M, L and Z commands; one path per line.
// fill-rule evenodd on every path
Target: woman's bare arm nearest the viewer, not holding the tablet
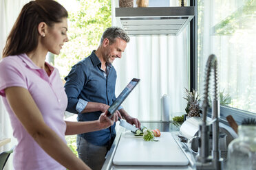
M 82 160 L 72 153 L 61 138 L 45 124 L 39 108 L 27 89 L 10 87 L 5 89 L 5 93 L 10 108 L 21 121 L 25 130 L 47 154 L 67 169 L 89 169 Z

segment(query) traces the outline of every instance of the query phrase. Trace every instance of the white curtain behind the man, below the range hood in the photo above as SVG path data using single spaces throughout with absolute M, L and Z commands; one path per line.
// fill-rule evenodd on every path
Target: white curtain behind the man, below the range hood
M 112 25 L 118 25 L 112 0 Z M 133 77 L 140 83 L 122 106 L 140 120 L 161 119 L 161 97 L 169 96 L 170 119 L 185 114 L 184 88 L 189 86 L 188 27 L 179 36 L 131 36 L 122 58 L 114 61 L 116 96 Z

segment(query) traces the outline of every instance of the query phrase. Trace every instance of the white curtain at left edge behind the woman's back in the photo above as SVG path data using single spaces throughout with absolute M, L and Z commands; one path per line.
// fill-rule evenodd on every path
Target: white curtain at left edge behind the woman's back
M 29 0 L 1 0 L 0 1 L 0 53 L 2 56 L 3 47 L 6 45 L 6 38 L 12 29 L 14 22 L 21 11 L 21 8 Z M 12 127 L 6 108 L 0 99 L 0 138 L 11 138 L 11 143 L 1 147 L 0 151 L 7 151 L 17 144 L 12 136 Z M 12 169 L 12 155 L 4 169 Z

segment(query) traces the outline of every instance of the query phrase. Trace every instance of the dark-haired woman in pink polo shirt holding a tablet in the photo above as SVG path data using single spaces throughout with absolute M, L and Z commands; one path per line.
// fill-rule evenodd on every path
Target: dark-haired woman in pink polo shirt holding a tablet
M 0 95 L 14 137 L 14 169 L 89 169 L 65 143 L 65 135 L 107 128 L 116 121 L 106 113 L 98 121 L 63 120 L 67 96 L 58 70 L 45 62 L 67 42 L 67 11 L 53 0 L 30 1 L 12 27 L 0 62 Z

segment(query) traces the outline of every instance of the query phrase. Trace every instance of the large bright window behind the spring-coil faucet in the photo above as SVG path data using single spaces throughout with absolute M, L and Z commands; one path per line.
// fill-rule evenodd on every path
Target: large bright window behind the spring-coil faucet
M 256 1 L 198 0 L 198 89 L 217 56 L 220 104 L 256 114 Z

